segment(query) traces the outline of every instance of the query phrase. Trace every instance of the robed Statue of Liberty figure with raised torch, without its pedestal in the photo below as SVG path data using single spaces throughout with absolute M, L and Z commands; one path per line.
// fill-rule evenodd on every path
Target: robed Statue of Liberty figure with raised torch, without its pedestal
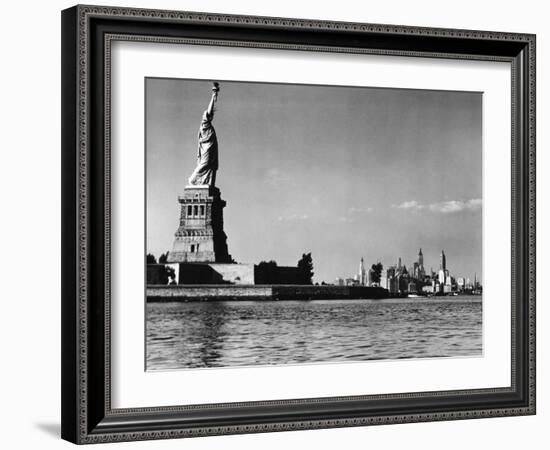
M 202 115 L 199 128 L 199 143 L 197 151 L 197 167 L 189 177 L 189 184 L 193 186 L 214 186 L 216 183 L 216 171 L 218 170 L 218 140 L 216 130 L 212 125 L 214 119 L 215 104 L 218 100 L 220 86 L 214 83 L 212 97 L 208 108 Z

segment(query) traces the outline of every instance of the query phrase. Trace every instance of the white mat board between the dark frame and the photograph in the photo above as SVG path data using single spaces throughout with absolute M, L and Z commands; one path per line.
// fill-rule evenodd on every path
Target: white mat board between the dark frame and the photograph
M 113 408 L 510 386 L 509 63 L 121 41 L 111 58 Z M 483 92 L 483 356 L 146 372 L 145 77 Z

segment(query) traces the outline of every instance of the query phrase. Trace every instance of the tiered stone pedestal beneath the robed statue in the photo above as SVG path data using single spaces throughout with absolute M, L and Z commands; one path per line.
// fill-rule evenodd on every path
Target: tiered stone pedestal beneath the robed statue
M 230 263 L 227 236 L 223 231 L 220 190 L 214 186 L 186 186 L 178 197 L 180 225 L 176 231 L 169 263 Z

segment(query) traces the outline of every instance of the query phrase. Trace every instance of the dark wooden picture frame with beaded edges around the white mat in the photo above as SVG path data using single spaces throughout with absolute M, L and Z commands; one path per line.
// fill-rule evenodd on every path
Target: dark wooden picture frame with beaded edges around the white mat
M 512 65 L 510 387 L 112 409 L 110 43 L 186 42 Z M 62 437 L 75 443 L 535 413 L 535 36 L 75 6 L 62 12 Z

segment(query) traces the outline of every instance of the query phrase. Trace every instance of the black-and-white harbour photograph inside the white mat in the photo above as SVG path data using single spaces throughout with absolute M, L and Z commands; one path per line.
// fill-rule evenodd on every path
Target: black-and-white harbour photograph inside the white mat
M 146 78 L 146 370 L 482 356 L 482 107 Z

